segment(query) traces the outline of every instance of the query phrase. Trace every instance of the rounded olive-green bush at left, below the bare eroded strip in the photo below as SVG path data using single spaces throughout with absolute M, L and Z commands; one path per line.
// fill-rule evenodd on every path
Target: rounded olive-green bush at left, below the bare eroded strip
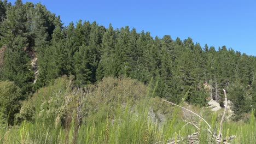
M 71 94 L 72 80 L 66 76 L 56 79 L 48 87 L 40 88 L 31 99 L 24 101 L 17 119 L 34 121 L 35 118 L 41 121 L 53 120 L 64 115 L 65 100 Z

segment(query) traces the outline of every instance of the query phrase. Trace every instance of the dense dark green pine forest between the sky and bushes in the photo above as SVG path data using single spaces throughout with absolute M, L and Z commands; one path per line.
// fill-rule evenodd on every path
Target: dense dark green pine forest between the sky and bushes
M 256 58 L 226 46 L 216 50 L 191 38 L 153 38 L 129 26 L 106 28 L 82 20 L 63 26 L 41 3 L 5 0 L 0 1 L 0 47 L 0 87 L 10 88 L 2 91 L 0 106 L 9 123 L 22 101 L 64 75 L 80 88 L 103 77 L 130 77 L 154 83 L 153 97 L 199 106 L 206 106 L 207 98 L 223 105 L 222 89 L 227 89 L 234 120 L 256 108 Z

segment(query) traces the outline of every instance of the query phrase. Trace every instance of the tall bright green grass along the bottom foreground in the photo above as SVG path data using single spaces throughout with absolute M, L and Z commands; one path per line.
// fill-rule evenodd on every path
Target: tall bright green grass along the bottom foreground
M 129 105 L 119 106 L 118 115 L 113 119 L 106 117 L 103 122 L 97 122 L 95 119 L 83 123 L 77 131 L 74 121 L 69 130 L 62 128 L 60 124 L 55 125 L 55 122 L 50 120 L 24 121 L 20 126 L 1 128 L 0 143 L 155 143 L 159 141 L 165 143 L 169 139 L 186 137 L 196 131 L 190 125 L 182 129 L 185 123 L 181 121 L 179 115 L 174 115 L 167 122 L 159 125 L 149 118 L 147 109 L 149 105 L 141 106 L 145 106 L 145 109 L 138 109 L 137 112 L 129 110 Z M 205 123 L 200 122 L 200 143 L 209 143 L 210 135 L 206 127 Z M 255 143 L 255 128 L 256 124 L 252 117 L 249 123 L 225 122 L 222 134 L 223 137 L 237 136 L 230 143 Z

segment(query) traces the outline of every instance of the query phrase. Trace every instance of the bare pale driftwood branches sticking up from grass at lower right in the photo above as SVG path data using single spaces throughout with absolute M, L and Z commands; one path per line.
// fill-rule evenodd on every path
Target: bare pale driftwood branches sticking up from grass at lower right
M 187 111 L 193 113 L 194 115 L 196 115 L 197 117 L 199 117 L 200 119 L 202 119 L 202 121 L 204 121 L 204 122 L 208 125 L 208 129 L 207 129 L 207 130 L 208 130 L 208 133 L 209 133 L 210 135 L 212 135 L 212 141 L 216 141 L 216 143 L 218 143 L 218 144 L 219 144 L 219 143 L 222 143 L 222 142 L 223 142 L 223 143 L 228 143 L 228 142 L 227 142 L 227 139 L 222 139 L 222 133 L 221 133 L 221 131 L 222 131 L 222 124 L 223 124 L 223 122 L 224 122 L 225 115 L 226 115 L 226 107 L 227 107 L 227 105 L 228 105 L 228 103 L 227 103 L 227 98 L 226 98 L 226 91 L 225 91 L 224 89 L 223 89 L 223 92 L 224 92 L 224 95 L 225 95 L 225 108 L 224 108 L 224 113 L 223 113 L 223 116 L 222 116 L 222 120 L 220 121 L 218 136 L 217 136 L 216 131 L 213 131 L 213 132 L 212 132 L 211 125 L 208 124 L 207 121 L 206 121 L 205 119 L 203 119 L 201 116 L 197 115 L 197 113 L 195 113 L 195 112 L 193 112 L 193 111 L 190 111 L 190 110 L 186 109 L 185 107 L 182 107 L 182 106 L 179 106 L 179 105 L 177 105 L 177 104 L 171 103 L 170 101 L 167 101 L 167 100 L 163 100 L 163 101 L 165 101 L 166 103 L 169 103 L 169 104 L 171 104 L 171 105 L 181 107 L 182 109 L 187 110 Z M 191 124 L 191 125 L 193 125 L 197 130 L 199 130 L 199 127 L 197 127 L 197 125 L 195 124 L 196 122 L 193 122 L 193 121 L 191 121 L 191 122 L 184 121 L 184 122 L 186 122 L 187 124 L 185 124 L 185 125 L 183 126 L 183 128 L 184 128 L 186 125 Z M 182 128 L 182 129 L 183 129 L 183 128 Z M 234 136 L 234 135 L 228 137 L 228 141 L 229 141 L 229 140 L 232 140 L 232 139 L 235 139 L 235 137 L 236 137 L 236 136 Z M 156 142 L 155 144 L 157 144 L 157 143 L 174 144 L 174 143 L 181 143 L 181 141 L 184 142 L 184 140 L 187 140 L 188 143 L 199 143 L 199 133 L 196 132 L 196 133 L 194 133 L 194 134 L 190 134 L 190 135 L 188 135 L 188 136 L 185 137 L 185 138 L 184 138 L 184 137 L 180 137 L 179 140 L 171 139 L 171 140 L 167 140 L 167 141 L 159 141 L 159 142 Z

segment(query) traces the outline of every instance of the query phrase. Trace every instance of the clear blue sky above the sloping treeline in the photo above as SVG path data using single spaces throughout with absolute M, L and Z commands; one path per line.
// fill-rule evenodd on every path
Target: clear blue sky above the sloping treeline
M 27 0 L 33 3 L 38 0 Z M 14 3 L 15 1 L 9 1 Z M 24 3 L 26 1 L 23 1 Z M 255 0 L 42 0 L 65 25 L 79 19 L 114 28 L 135 27 L 155 37 L 191 37 L 201 46 L 226 45 L 256 56 Z

